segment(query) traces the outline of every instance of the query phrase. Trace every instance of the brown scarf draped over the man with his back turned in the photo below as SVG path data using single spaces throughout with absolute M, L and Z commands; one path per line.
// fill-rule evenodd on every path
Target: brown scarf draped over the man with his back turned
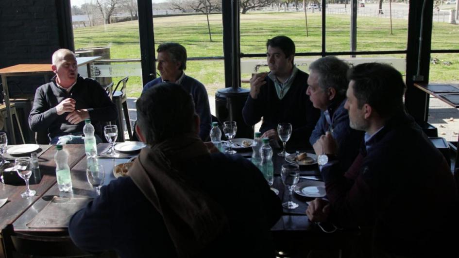
M 177 162 L 209 155 L 195 134 L 143 148 L 128 175 L 163 216 L 179 257 L 193 257 L 228 230 L 219 204 L 174 168 Z

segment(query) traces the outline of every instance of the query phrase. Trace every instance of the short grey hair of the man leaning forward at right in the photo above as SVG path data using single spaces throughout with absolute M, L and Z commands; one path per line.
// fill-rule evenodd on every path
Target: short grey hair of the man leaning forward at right
M 319 86 L 322 90 L 334 88 L 337 95 L 346 95 L 346 90 L 349 86 L 349 80 L 347 79 L 349 65 L 344 61 L 336 56 L 325 56 L 312 62 L 309 70 L 318 73 Z

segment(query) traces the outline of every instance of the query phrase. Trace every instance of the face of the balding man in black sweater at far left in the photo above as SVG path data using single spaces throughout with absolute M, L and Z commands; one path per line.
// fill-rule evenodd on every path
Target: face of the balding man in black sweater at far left
M 76 58 L 72 54 L 59 56 L 56 65 L 52 65 L 51 69 L 56 74 L 57 83 L 63 87 L 71 86 L 78 77 Z

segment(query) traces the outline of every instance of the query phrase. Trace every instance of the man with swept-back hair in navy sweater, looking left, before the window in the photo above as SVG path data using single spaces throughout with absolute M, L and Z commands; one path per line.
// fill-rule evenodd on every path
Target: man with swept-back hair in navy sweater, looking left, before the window
M 181 85 L 188 93 L 191 94 L 194 101 L 196 113 L 201 120 L 199 128 L 199 137 L 206 140 L 209 137 L 212 119 L 210 116 L 209 97 L 202 83 L 198 80 L 187 76 L 187 50 L 178 43 L 163 43 L 156 50 L 158 57 L 158 70 L 161 77 L 154 79 L 143 87 L 145 92 L 150 87 L 163 82 L 170 82 Z

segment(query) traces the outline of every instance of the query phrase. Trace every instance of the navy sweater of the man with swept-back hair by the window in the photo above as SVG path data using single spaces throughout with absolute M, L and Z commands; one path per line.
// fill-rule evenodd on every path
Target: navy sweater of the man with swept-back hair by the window
M 147 83 L 143 87 L 142 93 L 148 88 L 160 84 L 161 82 L 161 77 L 158 77 L 153 81 Z M 205 90 L 205 87 L 202 83 L 187 75 L 184 76 L 181 86 L 186 91 L 188 91 L 193 97 L 196 113 L 199 115 L 199 118 L 201 119 L 201 125 L 199 127 L 199 137 L 202 140 L 206 140 L 209 136 L 210 127 L 212 124 L 212 119 L 210 117 L 209 97 L 207 96 L 207 91 Z

